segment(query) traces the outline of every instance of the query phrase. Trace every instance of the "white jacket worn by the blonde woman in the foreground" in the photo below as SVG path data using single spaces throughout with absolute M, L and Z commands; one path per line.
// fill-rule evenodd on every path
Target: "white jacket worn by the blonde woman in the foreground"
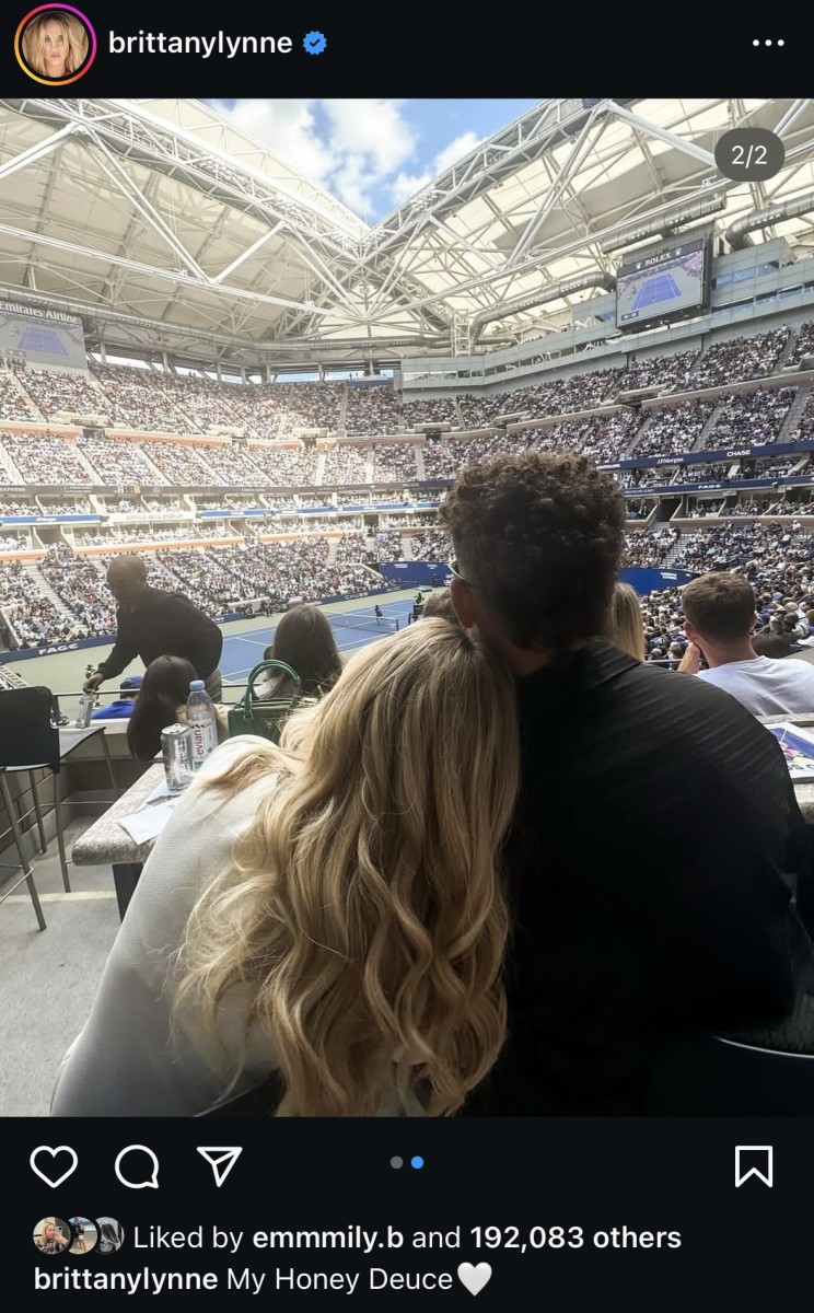
M 221 1102 L 223 1053 L 217 1044 L 182 1023 L 169 1043 L 173 990 L 167 977 L 200 893 L 231 864 L 232 844 L 270 783 L 265 777 L 225 801 L 202 781 L 253 742 L 243 735 L 213 752 L 159 836 L 88 1022 L 62 1061 L 53 1116 L 194 1116 Z M 221 1018 L 227 1053 L 243 1062 L 232 1095 L 251 1088 L 276 1065 L 273 1039 L 257 1028 L 243 1050 L 247 1015 L 244 993 L 232 990 Z

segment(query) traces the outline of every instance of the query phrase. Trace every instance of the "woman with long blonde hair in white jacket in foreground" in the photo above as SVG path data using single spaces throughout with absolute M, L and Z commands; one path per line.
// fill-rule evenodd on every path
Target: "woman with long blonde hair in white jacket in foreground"
M 498 852 L 515 687 L 462 628 L 372 643 L 288 723 L 223 744 L 135 889 L 59 1116 L 457 1111 L 505 1037 Z

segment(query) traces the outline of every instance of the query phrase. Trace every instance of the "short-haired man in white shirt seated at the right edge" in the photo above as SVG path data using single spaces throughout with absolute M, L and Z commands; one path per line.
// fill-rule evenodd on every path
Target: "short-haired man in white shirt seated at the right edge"
M 680 671 L 731 693 L 754 716 L 814 713 L 814 667 L 755 655 L 755 593 L 742 575 L 719 571 L 693 579 L 681 601 L 689 646 Z M 701 658 L 709 670 L 700 670 Z

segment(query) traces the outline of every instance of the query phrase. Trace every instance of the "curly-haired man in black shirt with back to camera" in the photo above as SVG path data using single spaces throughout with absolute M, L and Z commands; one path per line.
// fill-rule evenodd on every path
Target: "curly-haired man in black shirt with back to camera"
M 453 605 L 517 676 L 523 741 L 509 1039 L 466 1111 L 643 1112 L 672 1037 L 781 1022 L 810 968 L 782 751 L 719 689 L 597 639 L 625 509 L 588 460 L 469 466 L 441 517 Z

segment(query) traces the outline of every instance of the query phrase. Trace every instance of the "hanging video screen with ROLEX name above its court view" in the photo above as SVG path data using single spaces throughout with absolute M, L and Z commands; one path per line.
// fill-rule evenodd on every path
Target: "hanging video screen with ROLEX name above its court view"
M 616 323 L 638 328 L 709 305 L 710 243 L 693 238 L 621 265 L 616 281 Z

